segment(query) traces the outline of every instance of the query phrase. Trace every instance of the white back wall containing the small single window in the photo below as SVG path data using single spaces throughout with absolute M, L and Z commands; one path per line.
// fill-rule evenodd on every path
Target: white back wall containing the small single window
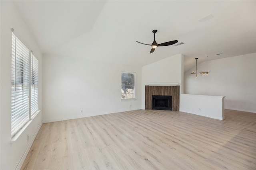
M 44 122 L 141 109 L 141 68 L 46 55 L 43 70 Z M 136 72 L 136 100 L 121 102 L 121 71 Z

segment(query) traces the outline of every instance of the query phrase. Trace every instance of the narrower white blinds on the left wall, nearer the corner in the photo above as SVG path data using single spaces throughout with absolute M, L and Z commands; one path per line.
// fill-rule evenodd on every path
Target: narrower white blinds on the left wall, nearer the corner
M 30 113 L 33 118 L 38 111 L 38 59 L 31 53 Z

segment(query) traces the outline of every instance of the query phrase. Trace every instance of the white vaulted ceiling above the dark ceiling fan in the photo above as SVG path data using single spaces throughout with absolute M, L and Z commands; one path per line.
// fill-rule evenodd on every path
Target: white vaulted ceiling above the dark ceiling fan
M 256 53 L 256 1 L 13 1 L 42 53 L 144 66 L 184 54 L 184 70 Z M 211 14 L 210 20 L 200 22 Z M 178 40 L 180 46 L 156 42 Z M 216 55 L 223 53 L 222 55 Z

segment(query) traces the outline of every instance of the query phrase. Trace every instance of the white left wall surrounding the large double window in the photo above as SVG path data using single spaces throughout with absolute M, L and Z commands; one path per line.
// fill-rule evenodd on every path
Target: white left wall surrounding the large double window
M 26 152 L 30 149 L 36 132 L 42 124 L 42 56 L 34 38 L 11 1 L 0 2 L 0 169 L 14 170 L 23 163 Z M 16 36 L 34 52 L 39 60 L 39 109 L 40 113 L 33 119 L 16 141 L 11 143 L 11 44 L 14 28 Z M 30 140 L 27 141 L 27 135 Z

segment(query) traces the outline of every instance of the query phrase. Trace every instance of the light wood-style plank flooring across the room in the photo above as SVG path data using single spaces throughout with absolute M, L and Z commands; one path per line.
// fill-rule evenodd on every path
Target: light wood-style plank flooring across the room
M 136 110 L 44 123 L 22 169 L 256 170 L 256 113 Z

